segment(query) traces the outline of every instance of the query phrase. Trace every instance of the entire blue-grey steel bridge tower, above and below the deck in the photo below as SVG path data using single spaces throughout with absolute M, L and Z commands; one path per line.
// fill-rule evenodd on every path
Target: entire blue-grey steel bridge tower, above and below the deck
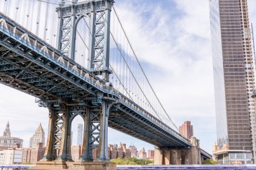
M 71 5 L 62 1 L 57 8 L 59 17 L 57 49 L 75 60 L 75 36 L 77 24 L 83 17 L 90 19 L 90 48 L 88 69 L 108 85 L 110 11 L 113 0 L 90 0 Z M 97 161 L 108 161 L 108 113 L 116 101 L 104 98 L 104 94 L 88 96 L 88 99 L 77 101 L 40 101 L 49 108 L 49 133 L 43 161 L 40 168 L 49 163 L 64 166 L 63 162 L 71 160 L 71 123 L 75 116 L 84 119 L 84 141 L 82 162 L 93 161 L 92 150 L 97 149 Z M 72 164 L 73 165 L 73 164 Z M 80 165 L 80 164 L 79 164 Z M 69 167 L 69 166 L 67 166 Z

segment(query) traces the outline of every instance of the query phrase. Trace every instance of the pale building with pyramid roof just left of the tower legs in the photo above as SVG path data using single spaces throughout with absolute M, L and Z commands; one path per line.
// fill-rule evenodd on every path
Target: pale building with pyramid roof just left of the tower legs
M 34 132 L 34 135 L 30 138 L 30 148 L 37 148 L 39 142 L 42 142 L 42 148 L 44 148 L 45 138 L 41 124 L 36 129 L 36 132 Z

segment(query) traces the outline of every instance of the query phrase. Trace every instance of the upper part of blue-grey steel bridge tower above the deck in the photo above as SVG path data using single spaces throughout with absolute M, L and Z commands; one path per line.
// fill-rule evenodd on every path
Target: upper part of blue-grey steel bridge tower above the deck
M 62 1 L 57 8 L 59 22 L 57 33 L 57 49 L 75 60 L 75 37 L 77 24 L 83 17 L 90 19 L 90 41 L 88 69 L 108 82 L 109 74 L 109 42 L 110 11 L 113 0 L 90 0 L 71 5 Z

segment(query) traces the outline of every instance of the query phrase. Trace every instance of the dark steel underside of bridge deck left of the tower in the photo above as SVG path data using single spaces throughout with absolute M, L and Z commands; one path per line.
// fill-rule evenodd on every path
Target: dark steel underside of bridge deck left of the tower
M 51 58 L 24 44 L 11 38 L 0 41 L 0 83 L 38 98 L 61 99 L 64 102 L 81 101 L 95 96 L 98 91 Z

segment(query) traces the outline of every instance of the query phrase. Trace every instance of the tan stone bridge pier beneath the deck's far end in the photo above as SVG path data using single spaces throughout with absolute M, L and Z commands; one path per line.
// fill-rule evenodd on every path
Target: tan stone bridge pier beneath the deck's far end
M 200 165 L 201 152 L 199 140 L 191 137 L 192 146 L 189 148 L 156 148 L 155 165 Z

